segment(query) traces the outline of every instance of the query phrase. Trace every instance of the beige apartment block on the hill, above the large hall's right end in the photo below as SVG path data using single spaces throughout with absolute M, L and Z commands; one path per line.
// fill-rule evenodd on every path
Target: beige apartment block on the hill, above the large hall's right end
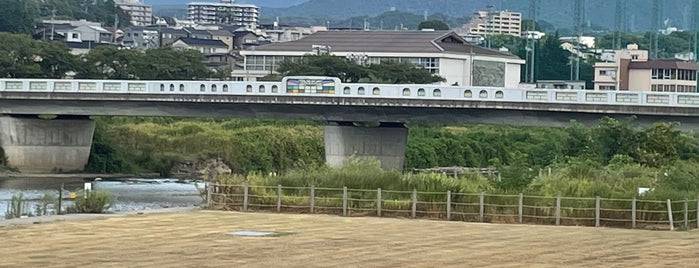
M 522 13 L 509 11 L 478 11 L 473 14 L 471 21 L 463 28 L 469 34 L 491 35 L 506 34 L 522 35 Z

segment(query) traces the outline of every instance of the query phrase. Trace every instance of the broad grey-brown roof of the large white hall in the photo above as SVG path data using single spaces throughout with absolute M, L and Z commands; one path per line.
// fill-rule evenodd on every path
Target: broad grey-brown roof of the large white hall
M 285 43 L 259 46 L 256 51 L 311 51 L 329 45 L 336 52 L 459 53 L 518 58 L 508 52 L 469 44 L 450 31 L 321 31 Z

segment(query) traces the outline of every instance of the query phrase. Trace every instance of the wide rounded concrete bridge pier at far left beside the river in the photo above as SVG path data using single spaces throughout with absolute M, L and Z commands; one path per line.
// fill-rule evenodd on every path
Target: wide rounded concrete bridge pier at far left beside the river
M 0 116 L 0 146 L 8 164 L 24 173 L 81 171 L 94 130 L 88 117 Z

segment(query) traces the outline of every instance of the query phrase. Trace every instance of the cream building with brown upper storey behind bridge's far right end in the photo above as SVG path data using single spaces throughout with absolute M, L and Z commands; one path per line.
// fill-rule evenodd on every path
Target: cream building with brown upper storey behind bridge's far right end
M 594 67 L 595 90 L 697 92 L 695 62 L 649 59 L 648 51 L 636 44 L 616 50 L 614 61 Z

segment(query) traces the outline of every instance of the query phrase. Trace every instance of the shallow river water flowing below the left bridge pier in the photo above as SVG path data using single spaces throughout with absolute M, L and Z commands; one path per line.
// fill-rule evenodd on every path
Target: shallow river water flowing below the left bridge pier
M 114 198 L 109 212 L 125 212 L 170 207 L 192 207 L 202 202 L 197 187 L 203 189 L 203 183 L 181 182 L 174 179 L 104 179 L 94 181 L 92 178 L 0 178 L 0 220 L 5 219 L 7 207 L 13 195 L 22 194 L 25 213 L 36 214 L 35 205 L 41 204 L 46 194 L 58 196 L 61 185 L 64 187 L 65 210 L 72 205 L 68 198 L 70 192 L 83 189 L 84 183 L 92 183 L 93 190 L 106 190 Z M 48 210 L 55 213 L 55 206 Z

